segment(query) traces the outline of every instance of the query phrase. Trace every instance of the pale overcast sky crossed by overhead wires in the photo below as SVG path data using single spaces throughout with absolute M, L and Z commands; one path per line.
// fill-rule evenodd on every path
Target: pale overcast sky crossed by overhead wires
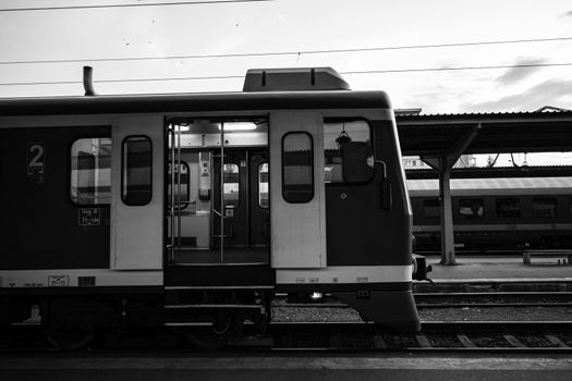
M 242 3 L 7 12 L 10 8 L 144 4 L 182 0 L 0 0 L 0 97 L 83 95 L 82 66 L 99 94 L 239 91 L 250 67 L 331 66 L 339 72 L 572 64 L 570 0 L 276 0 Z M 93 62 L 569 37 L 558 41 L 337 53 Z M 85 61 L 83 61 L 85 60 Z M 382 89 L 395 108 L 424 113 L 572 109 L 572 65 L 345 74 L 353 89 Z

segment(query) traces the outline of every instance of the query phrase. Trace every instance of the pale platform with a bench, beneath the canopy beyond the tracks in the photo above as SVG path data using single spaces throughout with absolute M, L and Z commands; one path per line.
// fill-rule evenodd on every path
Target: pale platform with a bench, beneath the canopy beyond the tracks
M 427 256 L 433 267 L 428 276 L 439 288 L 463 291 L 495 285 L 499 291 L 572 291 L 572 266 L 557 258 L 535 258 L 525 265 L 519 255 L 458 256 L 457 266 L 439 263 L 439 256 Z M 414 282 L 415 291 L 430 291 L 428 282 Z

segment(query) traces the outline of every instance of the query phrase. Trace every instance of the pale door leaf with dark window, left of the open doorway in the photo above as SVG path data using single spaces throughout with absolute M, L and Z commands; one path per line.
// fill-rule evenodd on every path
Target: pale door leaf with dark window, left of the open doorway
M 161 269 L 163 120 L 121 118 L 111 139 L 111 269 Z

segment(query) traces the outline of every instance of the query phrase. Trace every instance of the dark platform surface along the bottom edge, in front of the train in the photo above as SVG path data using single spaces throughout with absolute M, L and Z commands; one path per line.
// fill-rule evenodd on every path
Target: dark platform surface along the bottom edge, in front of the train
M 0 358 L 2 380 L 571 380 L 569 356 L 345 355 Z

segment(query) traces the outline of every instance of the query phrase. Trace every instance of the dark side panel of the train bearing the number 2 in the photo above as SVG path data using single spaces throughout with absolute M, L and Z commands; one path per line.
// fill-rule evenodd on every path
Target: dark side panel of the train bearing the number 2
M 0 268 L 109 267 L 110 187 L 95 188 L 94 179 L 96 165 L 110 168 L 110 147 L 98 138 L 110 134 L 109 126 L 0 130 Z

